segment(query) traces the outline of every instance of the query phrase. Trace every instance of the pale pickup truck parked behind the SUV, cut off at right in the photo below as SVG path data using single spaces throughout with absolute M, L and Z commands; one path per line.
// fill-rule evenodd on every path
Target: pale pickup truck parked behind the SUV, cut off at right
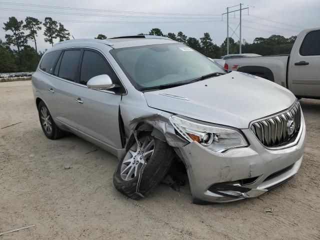
M 224 68 L 264 77 L 297 97 L 320 98 L 320 27 L 302 30 L 289 55 L 226 59 Z

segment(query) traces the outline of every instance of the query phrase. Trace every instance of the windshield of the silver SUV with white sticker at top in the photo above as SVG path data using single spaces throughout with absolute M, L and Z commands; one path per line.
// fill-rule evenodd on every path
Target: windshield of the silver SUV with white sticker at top
M 137 89 L 188 83 L 212 72 L 225 72 L 207 57 L 180 43 L 118 48 L 110 53 Z

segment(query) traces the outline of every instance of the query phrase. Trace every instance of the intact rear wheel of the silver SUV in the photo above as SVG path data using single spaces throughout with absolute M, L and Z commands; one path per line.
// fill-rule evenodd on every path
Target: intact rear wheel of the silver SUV
M 59 129 L 57 125 L 55 125 L 52 116 L 43 101 L 40 101 L 38 104 L 38 113 L 42 130 L 47 138 L 57 139 L 64 136 L 65 131 Z

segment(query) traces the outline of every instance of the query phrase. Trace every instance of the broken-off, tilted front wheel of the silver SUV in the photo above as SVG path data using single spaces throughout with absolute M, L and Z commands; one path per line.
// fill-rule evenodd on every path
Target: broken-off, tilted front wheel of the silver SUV
M 174 157 L 174 151 L 167 143 L 151 135 L 144 135 L 139 138 L 139 141 L 142 153 L 139 151 L 137 143 L 134 142 L 123 159 L 120 160 L 113 174 L 115 188 L 136 200 L 142 197 L 136 193 L 136 185 L 139 170 L 144 163 L 143 158 L 147 164 L 141 176 L 139 193 L 144 196 L 164 178 Z

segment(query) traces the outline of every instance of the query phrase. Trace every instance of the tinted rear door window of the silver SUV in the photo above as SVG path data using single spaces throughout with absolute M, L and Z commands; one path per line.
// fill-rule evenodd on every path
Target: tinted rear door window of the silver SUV
M 63 52 L 58 76 L 75 81 L 81 50 L 67 50 Z

